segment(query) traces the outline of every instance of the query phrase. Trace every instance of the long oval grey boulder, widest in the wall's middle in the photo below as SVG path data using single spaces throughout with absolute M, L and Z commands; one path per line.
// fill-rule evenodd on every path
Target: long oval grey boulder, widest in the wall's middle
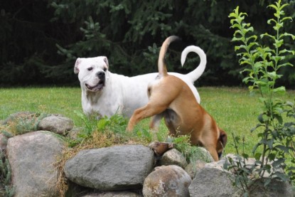
M 103 191 L 141 188 L 154 164 L 154 151 L 122 145 L 80 151 L 65 163 L 65 176 L 80 186 Z

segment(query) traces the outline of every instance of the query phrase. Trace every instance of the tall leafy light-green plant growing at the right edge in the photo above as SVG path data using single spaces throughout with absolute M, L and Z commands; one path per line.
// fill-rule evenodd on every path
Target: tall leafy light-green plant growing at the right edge
M 247 73 L 243 82 L 250 83 L 250 91 L 258 91 L 260 94 L 259 102 L 262 103 L 263 112 L 259 115 L 256 127 L 251 132 L 257 131 L 259 142 L 254 146 L 252 153 L 256 159 L 255 164 L 259 168 L 255 169 L 262 178 L 267 172 L 271 179 L 281 179 L 290 181 L 295 179 L 295 160 L 294 160 L 294 103 L 284 102 L 277 98 L 278 95 L 285 93 L 285 87 L 277 87 L 277 80 L 282 75 L 279 70 L 286 66 L 292 66 L 286 62 L 287 55 L 294 55 L 294 50 L 287 49 L 285 42 L 295 39 L 291 33 L 284 32 L 284 24 L 291 21 L 291 17 L 284 16 L 284 8 L 288 4 L 281 4 L 281 0 L 268 7 L 274 9 L 274 18 L 267 21 L 273 25 L 273 35 L 263 33 L 254 35 L 254 28 L 250 23 L 245 23 L 247 14 L 239 11 L 239 7 L 230 14 L 231 28 L 235 28 L 232 41 L 240 42 L 240 46 L 235 46 L 235 50 L 240 56 L 240 65 L 245 69 L 242 73 Z M 290 121 L 290 122 L 289 122 Z M 242 156 L 248 157 L 247 154 Z M 286 164 L 289 159 L 290 164 Z M 284 173 L 277 169 L 283 168 Z M 267 186 L 271 179 L 265 179 L 264 186 Z

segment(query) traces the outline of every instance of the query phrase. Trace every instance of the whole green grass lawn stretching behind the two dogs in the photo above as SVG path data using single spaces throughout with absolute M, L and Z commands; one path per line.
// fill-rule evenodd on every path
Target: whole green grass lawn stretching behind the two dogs
M 245 136 L 245 149 L 250 154 L 257 143 L 257 134 L 250 129 L 257 124 L 257 115 L 261 112 L 259 96 L 251 96 L 247 89 L 237 87 L 200 87 L 198 92 L 201 105 L 228 134 L 226 153 L 235 153 L 232 146 L 232 134 L 235 134 Z M 294 91 L 282 97 L 290 101 L 294 98 Z M 73 119 L 77 127 L 83 126 L 74 112 L 82 112 L 80 87 L 0 88 L 0 119 L 21 111 L 58 113 Z

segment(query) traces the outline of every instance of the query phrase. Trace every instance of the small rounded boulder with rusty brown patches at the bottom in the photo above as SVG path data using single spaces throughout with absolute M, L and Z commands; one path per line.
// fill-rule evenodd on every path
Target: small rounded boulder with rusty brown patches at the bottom
M 142 193 L 145 197 L 186 197 L 191 177 L 180 166 L 156 167 L 144 181 Z

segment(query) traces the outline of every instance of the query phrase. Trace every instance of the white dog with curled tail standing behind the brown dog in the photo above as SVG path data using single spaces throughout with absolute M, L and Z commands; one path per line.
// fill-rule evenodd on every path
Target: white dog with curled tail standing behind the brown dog
M 197 46 L 188 46 L 181 54 L 181 64 L 190 52 L 198 53 L 200 65 L 186 75 L 169 73 L 186 82 L 194 90 L 195 99 L 200 102 L 193 82 L 200 78 L 206 65 L 206 55 Z M 134 110 L 149 101 L 147 87 L 158 73 L 127 77 L 109 72 L 107 57 L 77 58 L 74 72 L 78 74 L 82 89 L 82 108 L 86 115 L 99 114 L 110 117 L 116 113 L 131 117 Z

